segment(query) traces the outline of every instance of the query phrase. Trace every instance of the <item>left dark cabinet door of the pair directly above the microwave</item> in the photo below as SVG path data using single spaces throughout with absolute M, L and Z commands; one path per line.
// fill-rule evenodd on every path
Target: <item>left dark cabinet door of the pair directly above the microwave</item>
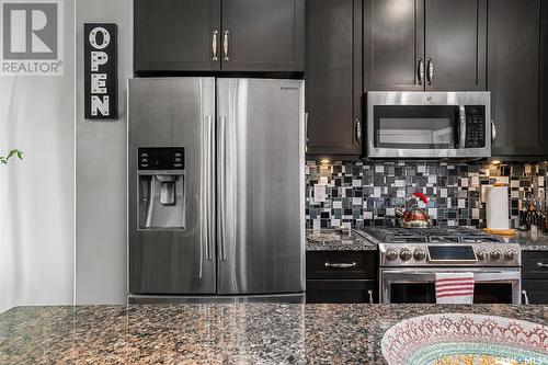
M 424 0 L 365 0 L 364 7 L 365 91 L 423 90 Z

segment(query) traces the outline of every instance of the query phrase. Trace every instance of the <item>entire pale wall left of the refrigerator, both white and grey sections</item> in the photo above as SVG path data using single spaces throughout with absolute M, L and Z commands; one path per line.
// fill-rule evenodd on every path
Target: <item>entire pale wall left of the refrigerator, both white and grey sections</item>
M 65 0 L 64 13 L 65 76 L 0 77 L 0 155 L 25 152 L 0 167 L 0 312 L 125 303 L 133 0 Z M 118 25 L 116 122 L 83 119 L 84 22 Z

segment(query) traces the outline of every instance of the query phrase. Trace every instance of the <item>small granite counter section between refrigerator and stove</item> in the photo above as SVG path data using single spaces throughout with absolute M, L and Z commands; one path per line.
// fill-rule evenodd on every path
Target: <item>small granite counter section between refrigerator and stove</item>
M 377 244 L 356 236 L 341 235 L 334 229 L 307 230 L 307 251 L 377 251 Z

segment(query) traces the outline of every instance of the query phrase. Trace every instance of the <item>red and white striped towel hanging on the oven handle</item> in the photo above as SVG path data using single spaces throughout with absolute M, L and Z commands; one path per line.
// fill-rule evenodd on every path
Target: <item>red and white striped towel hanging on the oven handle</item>
M 472 304 L 473 273 L 436 273 L 437 304 Z

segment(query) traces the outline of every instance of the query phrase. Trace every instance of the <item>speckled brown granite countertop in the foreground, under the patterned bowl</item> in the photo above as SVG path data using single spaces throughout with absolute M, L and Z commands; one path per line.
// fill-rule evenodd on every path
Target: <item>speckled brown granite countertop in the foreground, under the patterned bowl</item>
M 423 313 L 548 324 L 548 307 L 158 305 L 19 307 L 0 315 L 1 364 L 385 364 L 383 334 Z

